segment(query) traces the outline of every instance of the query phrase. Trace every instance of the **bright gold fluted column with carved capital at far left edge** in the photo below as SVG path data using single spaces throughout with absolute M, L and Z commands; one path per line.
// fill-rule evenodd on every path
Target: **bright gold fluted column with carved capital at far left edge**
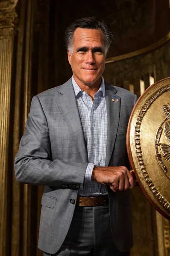
M 14 1 L 0 1 L 0 255 L 9 253 L 9 147 Z

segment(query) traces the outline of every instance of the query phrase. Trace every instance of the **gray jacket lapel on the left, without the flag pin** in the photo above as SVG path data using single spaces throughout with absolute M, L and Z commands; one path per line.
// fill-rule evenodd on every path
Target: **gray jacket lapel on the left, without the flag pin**
M 71 79 L 63 84 L 58 92 L 60 94 L 57 94 L 57 105 L 70 128 L 82 161 L 87 163 L 88 155 L 85 147 L 84 133 Z

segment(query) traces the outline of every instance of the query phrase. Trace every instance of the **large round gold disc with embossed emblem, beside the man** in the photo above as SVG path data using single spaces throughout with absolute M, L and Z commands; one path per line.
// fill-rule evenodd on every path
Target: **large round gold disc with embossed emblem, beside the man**
M 128 124 L 127 150 L 142 192 L 170 219 L 170 78 L 138 99 Z

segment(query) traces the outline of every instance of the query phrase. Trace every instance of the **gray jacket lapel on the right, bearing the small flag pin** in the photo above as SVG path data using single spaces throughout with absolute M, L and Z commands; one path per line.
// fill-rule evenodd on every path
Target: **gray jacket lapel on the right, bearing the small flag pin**
M 107 116 L 108 116 L 106 166 L 109 165 L 110 158 L 112 156 L 114 143 L 117 135 L 118 124 L 119 124 L 121 98 L 115 95 L 116 92 L 117 90 L 115 89 L 115 87 L 105 82 L 105 94 L 106 94 Z M 114 101 L 112 99 L 114 99 Z M 118 101 L 115 101 L 115 99 Z

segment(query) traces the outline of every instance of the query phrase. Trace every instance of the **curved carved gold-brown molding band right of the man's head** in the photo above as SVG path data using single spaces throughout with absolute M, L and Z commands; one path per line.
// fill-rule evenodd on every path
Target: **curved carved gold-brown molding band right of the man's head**
M 155 81 L 170 76 L 170 40 L 161 47 L 132 58 L 108 63 L 105 79 L 114 85 L 116 81 L 134 80 L 156 72 Z

